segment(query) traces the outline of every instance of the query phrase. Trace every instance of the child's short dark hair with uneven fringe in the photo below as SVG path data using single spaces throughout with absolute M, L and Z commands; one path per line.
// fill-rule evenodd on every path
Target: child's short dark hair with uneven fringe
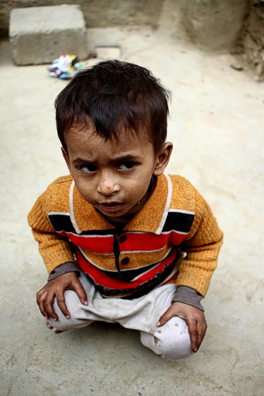
M 157 153 L 167 136 L 170 91 L 145 67 L 107 60 L 79 71 L 55 101 L 58 136 L 73 124 L 86 123 L 106 140 L 127 134 L 146 135 Z

